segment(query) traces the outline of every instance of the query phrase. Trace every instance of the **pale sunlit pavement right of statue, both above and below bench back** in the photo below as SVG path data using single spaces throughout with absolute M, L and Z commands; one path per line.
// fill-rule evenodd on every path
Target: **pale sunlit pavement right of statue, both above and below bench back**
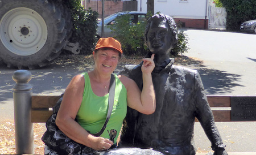
M 256 35 L 187 29 L 188 57 L 203 61 L 189 65 L 201 75 L 207 94 L 256 95 Z M 228 152 L 255 152 L 256 122 L 217 122 Z M 210 142 L 199 123 L 195 124 L 195 143 L 210 150 Z

